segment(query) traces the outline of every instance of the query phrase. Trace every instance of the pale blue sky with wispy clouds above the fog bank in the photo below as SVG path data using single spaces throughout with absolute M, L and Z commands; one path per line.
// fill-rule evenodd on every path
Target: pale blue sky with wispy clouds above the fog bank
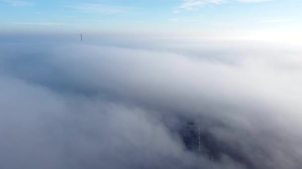
M 2 33 L 302 38 L 302 0 L 0 0 Z

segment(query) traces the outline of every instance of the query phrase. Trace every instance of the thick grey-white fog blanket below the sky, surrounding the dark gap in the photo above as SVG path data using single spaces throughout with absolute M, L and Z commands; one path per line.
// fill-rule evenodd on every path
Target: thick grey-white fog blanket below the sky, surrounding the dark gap
M 0 50 L 0 168 L 302 165 L 297 46 L 108 38 Z M 179 130 L 193 120 L 218 160 L 186 149 Z

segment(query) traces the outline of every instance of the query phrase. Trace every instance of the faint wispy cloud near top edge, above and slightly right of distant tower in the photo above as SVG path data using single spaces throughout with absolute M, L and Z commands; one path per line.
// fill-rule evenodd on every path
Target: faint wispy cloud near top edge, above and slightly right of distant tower
M 119 5 L 102 4 L 102 3 L 79 3 L 66 5 L 65 7 L 73 8 L 85 13 L 98 14 L 118 14 L 126 13 L 130 8 Z

